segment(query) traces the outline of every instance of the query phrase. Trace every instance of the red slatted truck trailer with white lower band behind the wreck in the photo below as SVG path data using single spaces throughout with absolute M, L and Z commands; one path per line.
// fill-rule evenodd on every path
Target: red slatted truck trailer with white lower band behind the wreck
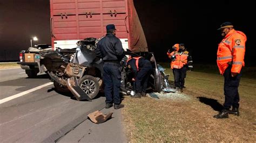
M 123 48 L 147 52 L 147 42 L 133 0 L 50 0 L 52 49 L 75 48 L 78 40 L 106 34 L 114 24 Z

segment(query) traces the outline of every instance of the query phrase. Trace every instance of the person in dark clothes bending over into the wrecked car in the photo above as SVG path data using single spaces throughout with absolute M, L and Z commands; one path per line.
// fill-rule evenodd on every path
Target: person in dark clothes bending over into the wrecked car
M 131 97 L 140 98 L 146 96 L 147 81 L 152 71 L 152 65 L 149 60 L 143 57 L 134 57 L 127 61 L 127 67 L 132 69 L 133 77 L 135 80 L 136 94 Z

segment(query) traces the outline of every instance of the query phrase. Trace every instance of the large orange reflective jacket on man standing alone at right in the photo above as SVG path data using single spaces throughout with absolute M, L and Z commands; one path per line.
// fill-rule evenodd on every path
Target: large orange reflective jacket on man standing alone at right
M 220 42 L 217 52 L 217 65 L 220 74 L 224 74 L 228 65 L 232 64 L 231 72 L 240 73 L 242 66 L 245 66 L 245 42 L 247 38 L 241 31 L 234 29 L 227 33 Z

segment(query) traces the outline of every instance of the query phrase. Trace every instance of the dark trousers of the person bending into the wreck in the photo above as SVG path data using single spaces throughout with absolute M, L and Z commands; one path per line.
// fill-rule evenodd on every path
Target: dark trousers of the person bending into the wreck
M 151 71 L 151 65 L 145 65 L 138 71 L 137 76 L 135 78 L 136 92 L 146 92 L 147 82 L 149 81 Z

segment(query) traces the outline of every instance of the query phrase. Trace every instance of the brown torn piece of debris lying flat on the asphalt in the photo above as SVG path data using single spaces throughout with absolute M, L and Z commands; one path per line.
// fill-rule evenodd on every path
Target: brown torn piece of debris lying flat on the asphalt
M 95 112 L 89 113 L 87 117 L 89 117 L 93 123 L 100 124 L 105 122 L 107 119 L 112 118 L 112 114 L 113 112 L 104 115 L 102 112 L 97 110 Z

